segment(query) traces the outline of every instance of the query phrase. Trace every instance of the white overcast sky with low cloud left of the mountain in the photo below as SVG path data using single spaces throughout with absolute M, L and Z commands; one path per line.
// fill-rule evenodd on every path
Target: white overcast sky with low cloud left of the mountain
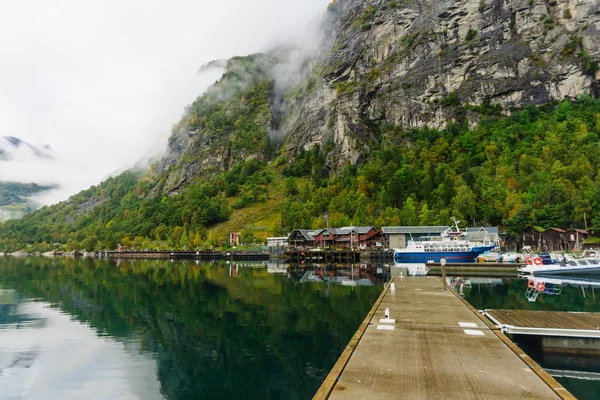
M 131 166 L 218 72 L 214 59 L 301 37 L 329 0 L 2 0 L 0 135 L 57 161 L 0 162 L 0 180 L 56 182 L 54 202 Z

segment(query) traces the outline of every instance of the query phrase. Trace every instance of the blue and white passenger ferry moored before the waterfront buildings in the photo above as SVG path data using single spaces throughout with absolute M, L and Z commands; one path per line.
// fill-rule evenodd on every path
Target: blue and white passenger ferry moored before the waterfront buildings
M 446 262 L 474 263 L 477 256 L 497 247 L 492 243 L 490 246 L 481 245 L 467 239 L 465 232 L 461 232 L 456 219 L 454 221 L 455 231 L 450 228 L 441 236 L 424 237 L 420 240 L 409 240 L 406 248 L 394 250 L 394 261 L 396 263 L 433 263 Z

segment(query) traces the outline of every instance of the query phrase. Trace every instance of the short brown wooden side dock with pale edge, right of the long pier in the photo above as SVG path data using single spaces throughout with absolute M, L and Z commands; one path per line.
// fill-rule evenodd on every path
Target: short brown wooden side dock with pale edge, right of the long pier
M 505 333 L 600 339 L 600 313 L 485 310 L 484 315 Z

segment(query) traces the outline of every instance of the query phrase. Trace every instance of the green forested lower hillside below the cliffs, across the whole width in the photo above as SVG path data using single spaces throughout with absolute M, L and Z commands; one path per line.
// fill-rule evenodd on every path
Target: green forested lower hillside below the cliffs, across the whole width
M 252 120 L 255 109 L 246 110 Z M 600 224 L 599 100 L 582 96 L 508 117 L 493 107 L 475 111 L 488 115 L 475 128 L 466 118 L 444 130 L 372 122 L 377 142 L 368 159 L 338 175 L 326 167 L 331 144 L 291 162 L 276 155 L 272 162 L 239 161 L 174 196 L 153 190 L 161 174 L 127 172 L 1 225 L 0 250 L 214 245 L 224 239 L 218 224 L 232 212 L 281 196 L 284 205 L 270 211 L 281 223 L 266 234 L 322 227 L 325 213 L 330 226 L 447 224 L 455 216 L 504 225 L 515 237 L 528 224 L 582 226 L 584 215 Z M 237 229 L 252 236 L 251 227 Z

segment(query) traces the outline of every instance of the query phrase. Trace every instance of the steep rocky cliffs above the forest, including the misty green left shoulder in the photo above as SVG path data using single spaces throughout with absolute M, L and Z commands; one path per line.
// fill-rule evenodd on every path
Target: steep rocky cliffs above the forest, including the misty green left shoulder
M 241 160 L 329 144 L 326 167 L 360 163 L 398 131 L 600 96 L 600 3 L 585 0 L 339 0 L 322 45 L 230 60 L 174 127 L 157 190 Z M 332 48 L 331 48 L 332 47 Z M 289 78 L 289 77 L 288 77 Z

